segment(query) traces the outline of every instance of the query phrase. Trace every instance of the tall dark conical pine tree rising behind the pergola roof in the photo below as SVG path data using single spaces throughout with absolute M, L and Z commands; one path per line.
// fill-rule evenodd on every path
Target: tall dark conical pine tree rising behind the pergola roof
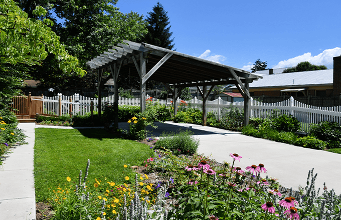
M 160 46 L 167 49 L 173 49 L 174 38 L 170 39 L 173 32 L 169 32 L 170 25 L 168 21 L 167 11 L 163 9 L 162 4 L 157 2 L 153 7 L 153 11 L 148 12 L 146 21 L 148 33 L 142 38 L 142 42 L 149 43 L 155 46 Z M 167 27 L 168 26 L 168 27 Z

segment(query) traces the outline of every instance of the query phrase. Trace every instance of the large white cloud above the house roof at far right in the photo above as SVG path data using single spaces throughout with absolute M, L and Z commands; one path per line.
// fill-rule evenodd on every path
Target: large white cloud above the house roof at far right
M 331 64 L 333 62 L 332 57 L 339 56 L 340 54 L 341 54 L 340 47 L 335 47 L 332 49 L 325 49 L 323 50 L 323 52 L 315 56 L 312 56 L 310 52 L 306 52 L 303 55 L 299 55 L 299 56 L 296 56 L 287 60 L 280 61 L 273 68 L 296 66 L 299 62 L 302 62 L 302 61 L 308 61 L 311 64 L 315 64 L 315 65 Z

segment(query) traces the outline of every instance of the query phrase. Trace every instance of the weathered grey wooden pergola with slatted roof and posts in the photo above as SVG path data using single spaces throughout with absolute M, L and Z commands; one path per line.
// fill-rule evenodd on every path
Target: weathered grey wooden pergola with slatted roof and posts
M 174 50 L 165 49 L 147 43 L 123 40 L 112 49 L 104 51 L 87 62 L 98 70 L 98 103 L 101 103 L 101 80 L 103 72 L 110 71 L 114 80 L 114 102 L 118 109 L 117 78 L 120 74 L 139 77 L 141 83 L 141 111 L 145 109 L 146 81 L 161 81 L 173 93 L 174 113 L 177 114 L 177 99 L 181 90 L 188 86 L 197 86 L 203 98 L 203 125 L 206 125 L 206 100 L 215 85 L 235 84 L 244 97 L 244 124 L 249 122 L 250 93 L 249 84 L 262 76 L 248 71 L 191 56 Z M 203 86 L 200 89 L 199 86 Z M 210 86 L 207 89 L 207 86 Z M 101 115 L 101 105 L 98 105 Z M 118 126 L 117 114 L 115 126 Z

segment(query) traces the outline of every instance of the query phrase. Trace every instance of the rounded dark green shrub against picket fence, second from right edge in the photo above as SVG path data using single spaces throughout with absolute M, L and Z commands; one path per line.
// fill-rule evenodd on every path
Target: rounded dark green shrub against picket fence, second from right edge
M 297 132 L 301 124 L 293 115 L 281 114 L 271 119 L 270 127 L 277 131 Z

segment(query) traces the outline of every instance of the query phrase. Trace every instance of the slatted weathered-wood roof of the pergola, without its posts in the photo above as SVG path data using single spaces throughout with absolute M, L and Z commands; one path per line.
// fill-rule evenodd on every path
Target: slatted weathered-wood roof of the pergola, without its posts
M 176 87 L 198 85 L 251 83 L 262 76 L 248 71 L 191 56 L 174 50 L 165 49 L 147 43 L 136 43 L 124 40 L 112 49 L 104 51 L 87 62 L 93 69 L 110 70 L 110 65 L 121 65 L 120 74 L 139 77 L 135 66 L 140 54 L 147 59 L 146 72 L 151 71 L 148 80 L 157 80 L 175 84 Z M 157 70 L 153 70 L 157 66 Z

